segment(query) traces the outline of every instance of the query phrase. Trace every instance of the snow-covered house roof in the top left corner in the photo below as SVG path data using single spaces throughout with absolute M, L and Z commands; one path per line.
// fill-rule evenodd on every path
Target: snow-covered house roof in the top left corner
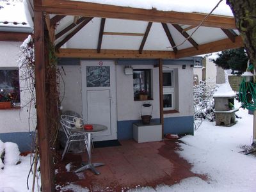
M 26 1 L 0 2 L 0 31 L 33 31 L 33 20 Z

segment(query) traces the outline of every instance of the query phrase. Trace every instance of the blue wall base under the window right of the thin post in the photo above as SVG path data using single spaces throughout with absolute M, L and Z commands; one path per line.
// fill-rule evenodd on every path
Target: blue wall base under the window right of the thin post
M 194 134 L 193 116 L 164 118 L 164 134 Z

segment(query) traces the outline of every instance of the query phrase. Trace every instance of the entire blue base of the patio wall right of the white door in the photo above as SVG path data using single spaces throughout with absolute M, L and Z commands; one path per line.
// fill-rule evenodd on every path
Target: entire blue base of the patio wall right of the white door
M 159 118 L 152 120 L 159 123 Z M 118 140 L 130 140 L 133 138 L 132 124 L 141 120 L 125 120 L 117 122 Z M 178 116 L 164 118 L 164 134 L 194 134 L 193 116 Z

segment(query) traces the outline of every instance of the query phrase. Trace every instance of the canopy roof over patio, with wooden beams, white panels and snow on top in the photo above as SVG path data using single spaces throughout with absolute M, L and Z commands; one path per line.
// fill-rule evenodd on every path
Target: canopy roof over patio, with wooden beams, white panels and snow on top
M 35 5 L 49 13 L 49 30 L 56 27 L 52 40 L 58 56 L 182 58 L 243 46 L 224 1 L 215 10 L 218 15 L 207 15 L 217 0 L 88 1 Z

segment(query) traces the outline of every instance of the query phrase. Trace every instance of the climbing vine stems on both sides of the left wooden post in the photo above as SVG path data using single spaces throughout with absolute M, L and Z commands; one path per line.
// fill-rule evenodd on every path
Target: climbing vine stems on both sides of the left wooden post
M 45 97 L 47 98 L 47 132 L 49 136 L 49 146 L 51 148 L 52 161 L 58 159 L 58 154 L 56 154 L 56 140 L 58 136 L 58 127 L 59 127 L 59 79 L 58 74 L 60 73 L 57 68 L 58 58 L 55 54 L 54 45 L 51 42 L 46 44 L 47 50 L 49 50 L 49 58 L 45 58 L 49 63 L 45 67 Z M 36 121 L 36 94 L 35 94 L 35 47 L 32 36 L 28 36 L 23 44 L 20 46 L 20 82 L 23 86 L 20 87 L 20 92 L 28 92 L 29 97 L 25 98 L 22 101 L 22 108 L 27 108 L 28 111 L 28 122 L 29 122 L 29 131 L 31 130 L 31 120 Z M 40 81 L 39 79 L 37 81 Z M 29 175 L 33 173 L 33 186 L 32 191 L 35 190 L 36 179 L 39 179 L 39 173 L 37 170 L 40 170 L 38 164 L 40 159 L 40 149 L 38 147 L 37 140 L 37 129 L 35 129 L 35 134 L 31 131 L 31 136 L 33 138 L 33 146 L 31 147 L 31 169 Z M 28 175 L 28 177 L 29 177 Z M 28 183 L 27 183 L 28 186 Z M 39 188 L 39 186 L 37 186 Z M 29 186 L 28 186 L 29 189 Z

